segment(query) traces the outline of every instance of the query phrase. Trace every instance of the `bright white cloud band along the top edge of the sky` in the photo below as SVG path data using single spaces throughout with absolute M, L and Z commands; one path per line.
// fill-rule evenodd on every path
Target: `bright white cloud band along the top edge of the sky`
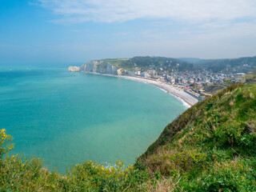
M 54 22 L 126 22 L 166 18 L 183 22 L 256 18 L 255 0 L 38 0 L 62 16 Z

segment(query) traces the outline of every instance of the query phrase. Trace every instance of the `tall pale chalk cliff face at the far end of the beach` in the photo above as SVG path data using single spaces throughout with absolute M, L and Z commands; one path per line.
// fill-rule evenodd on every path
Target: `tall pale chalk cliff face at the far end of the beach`
M 118 74 L 118 69 L 105 61 L 90 61 L 80 67 L 80 72 L 94 72 L 99 74 Z

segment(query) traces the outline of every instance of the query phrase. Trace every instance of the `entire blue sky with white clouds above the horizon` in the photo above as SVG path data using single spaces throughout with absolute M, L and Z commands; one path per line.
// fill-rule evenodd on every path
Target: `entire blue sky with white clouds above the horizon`
M 255 55 L 255 0 L 0 0 L 0 63 Z

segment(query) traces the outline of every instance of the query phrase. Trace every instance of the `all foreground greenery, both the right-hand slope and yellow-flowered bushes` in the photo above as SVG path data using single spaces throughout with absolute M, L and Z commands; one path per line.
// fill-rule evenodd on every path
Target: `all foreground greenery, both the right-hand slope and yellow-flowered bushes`
M 1 191 L 256 191 L 256 80 L 232 84 L 190 107 L 134 166 L 84 162 L 58 174 L 10 154 L 0 131 Z

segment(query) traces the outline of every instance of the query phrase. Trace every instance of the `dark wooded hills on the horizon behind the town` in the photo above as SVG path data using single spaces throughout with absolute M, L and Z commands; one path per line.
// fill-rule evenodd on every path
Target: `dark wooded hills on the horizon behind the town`
M 247 58 L 165 58 L 165 57 L 134 57 L 134 58 L 107 58 L 103 61 L 125 70 L 134 70 L 136 67 L 142 70 L 212 70 L 213 72 L 238 72 L 248 73 L 256 68 L 256 56 Z

